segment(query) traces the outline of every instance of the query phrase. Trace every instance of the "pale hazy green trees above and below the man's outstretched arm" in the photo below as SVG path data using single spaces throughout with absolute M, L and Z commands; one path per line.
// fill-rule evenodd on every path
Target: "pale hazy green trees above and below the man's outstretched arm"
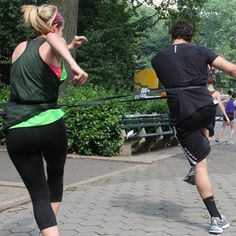
M 202 9 L 202 31 L 196 42 L 213 49 L 220 56 L 236 63 L 236 0 L 208 0 Z M 217 73 L 217 87 L 236 88 L 236 82 L 223 73 Z

